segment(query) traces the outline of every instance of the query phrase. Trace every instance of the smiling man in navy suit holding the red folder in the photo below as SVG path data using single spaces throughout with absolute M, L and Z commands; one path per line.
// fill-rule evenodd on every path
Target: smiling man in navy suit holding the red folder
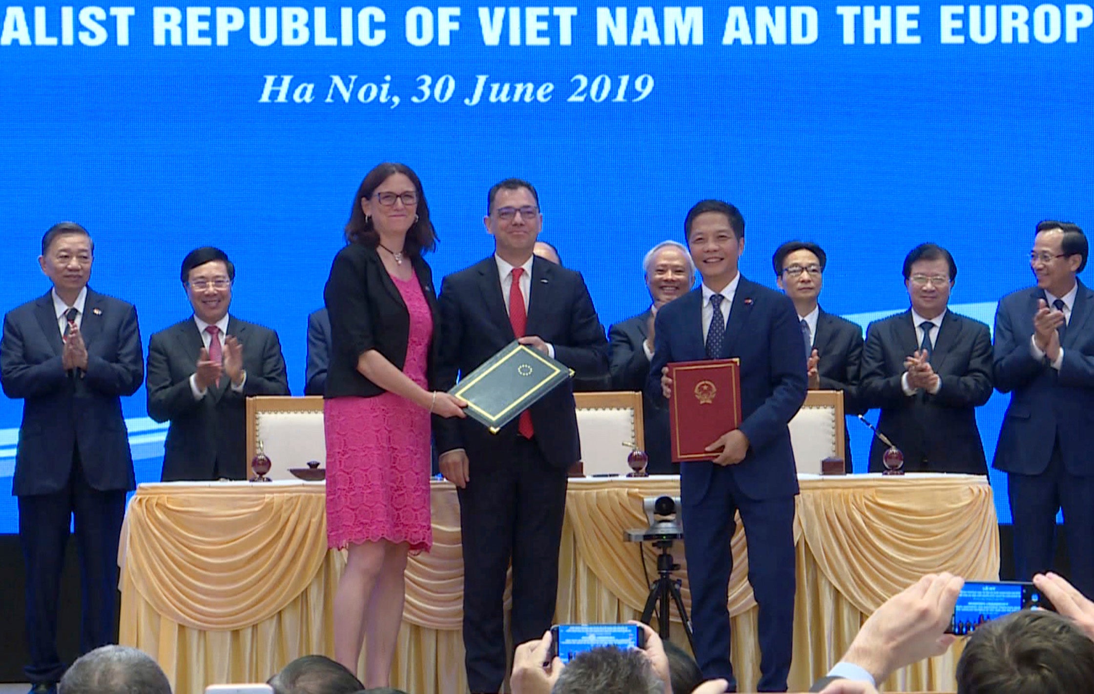
M 725 591 L 733 571 L 734 515 L 748 538 L 748 583 L 759 605 L 760 692 L 785 692 L 793 650 L 794 496 L 798 475 L 787 424 L 805 400 L 805 352 L 794 305 L 737 271 L 744 250 L 741 212 L 702 200 L 684 232 L 702 286 L 666 304 L 654 319 L 647 390 L 663 402 L 666 364 L 741 360 L 741 425 L 708 446 L 711 460 L 680 464 L 684 551 L 691 588 L 695 655 L 705 678 L 730 663 Z

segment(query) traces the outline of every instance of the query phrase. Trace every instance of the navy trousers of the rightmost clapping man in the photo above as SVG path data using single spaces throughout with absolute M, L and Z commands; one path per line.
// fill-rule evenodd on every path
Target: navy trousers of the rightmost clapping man
M 1052 446 L 1040 474 L 1008 474 L 1008 496 L 1014 519 L 1014 569 L 1019 580 L 1052 568 L 1056 511 L 1063 509 L 1071 584 L 1094 597 L 1094 477 L 1068 472 L 1060 442 Z

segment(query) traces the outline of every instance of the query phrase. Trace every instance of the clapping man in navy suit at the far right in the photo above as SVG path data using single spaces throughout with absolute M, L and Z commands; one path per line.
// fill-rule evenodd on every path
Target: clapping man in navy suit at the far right
M 1051 568 L 1063 509 L 1071 583 L 1094 596 L 1094 292 L 1079 281 L 1089 246 L 1068 222 L 1037 225 L 1037 286 L 999 302 L 994 375 L 1011 403 L 994 466 L 1006 472 L 1020 580 Z

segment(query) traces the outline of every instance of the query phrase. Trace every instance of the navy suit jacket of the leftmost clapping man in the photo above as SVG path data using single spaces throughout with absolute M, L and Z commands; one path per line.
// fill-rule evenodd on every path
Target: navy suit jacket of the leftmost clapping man
M 61 366 L 63 342 L 51 293 L 4 316 L 3 391 L 23 399 L 12 481 L 16 496 L 63 489 L 77 447 L 93 489 L 135 489 L 121 396 L 131 396 L 144 379 L 137 309 L 89 287 L 80 332 L 88 348 L 88 370 L 71 377 Z

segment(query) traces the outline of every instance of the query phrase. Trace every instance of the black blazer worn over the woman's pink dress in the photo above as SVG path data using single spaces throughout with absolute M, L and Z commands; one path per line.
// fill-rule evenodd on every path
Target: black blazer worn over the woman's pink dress
M 433 340 L 426 365 L 426 378 L 433 388 L 441 325 L 433 273 L 420 256 L 411 256 L 409 260 L 433 315 Z M 401 369 L 410 338 L 410 313 L 376 249 L 353 243 L 339 250 L 330 266 L 323 298 L 330 317 L 331 339 L 324 396 L 369 398 L 385 392 L 357 370 L 357 360 L 364 352 L 376 350 Z

